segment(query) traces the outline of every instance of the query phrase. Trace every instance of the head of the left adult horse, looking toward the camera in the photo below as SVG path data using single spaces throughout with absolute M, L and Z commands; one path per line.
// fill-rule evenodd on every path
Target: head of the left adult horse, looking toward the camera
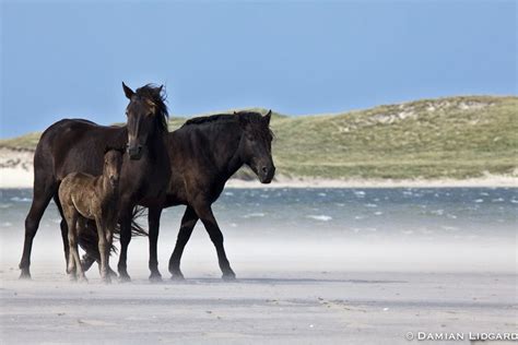
M 162 95 L 163 86 L 144 85 L 133 92 L 122 83 L 128 117 L 128 154 L 131 159 L 140 159 L 142 150 L 157 131 L 167 132 L 167 107 Z

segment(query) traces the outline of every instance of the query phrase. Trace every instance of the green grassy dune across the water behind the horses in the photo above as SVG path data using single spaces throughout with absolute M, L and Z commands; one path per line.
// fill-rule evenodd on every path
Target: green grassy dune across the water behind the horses
M 184 121 L 173 118 L 169 127 L 174 130 Z M 461 179 L 517 174 L 518 97 L 422 99 L 303 117 L 274 114 L 271 126 L 278 171 L 289 177 Z M 38 136 L 1 140 L 0 147 L 34 150 Z

